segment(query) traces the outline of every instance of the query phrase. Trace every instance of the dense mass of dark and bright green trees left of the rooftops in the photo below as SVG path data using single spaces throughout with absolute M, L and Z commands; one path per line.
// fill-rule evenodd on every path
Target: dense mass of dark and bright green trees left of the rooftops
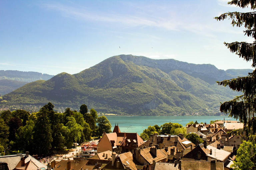
M 67 108 L 64 113 L 57 113 L 53 108 L 54 105 L 48 103 L 32 114 L 24 110 L 3 111 L 0 152 L 11 147 L 12 150 L 47 155 L 70 148 L 73 143 L 90 140 L 91 136 L 101 136 L 103 131 L 111 132 L 107 118 L 98 117 L 94 109 L 87 113 L 86 105 L 82 105 L 79 112 Z

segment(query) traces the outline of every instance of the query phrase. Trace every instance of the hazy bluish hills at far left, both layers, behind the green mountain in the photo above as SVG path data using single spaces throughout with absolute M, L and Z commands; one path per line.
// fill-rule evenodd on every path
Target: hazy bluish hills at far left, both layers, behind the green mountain
M 49 80 L 53 75 L 42 74 L 33 71 L 0 70 L 0 95 L 36 80 Z

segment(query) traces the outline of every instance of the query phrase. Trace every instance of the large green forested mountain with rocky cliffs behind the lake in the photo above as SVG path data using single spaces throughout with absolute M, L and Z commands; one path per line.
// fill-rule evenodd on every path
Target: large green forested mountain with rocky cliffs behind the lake
M 77 74 L 60 73 L 28 83 L 2 97 L 1 105 L 45 105 L 130 115 L 213 114 L 238 95 L 216 81 L 246 76 L 252 69 L 220 70 L 211 64 L 118 55 Z

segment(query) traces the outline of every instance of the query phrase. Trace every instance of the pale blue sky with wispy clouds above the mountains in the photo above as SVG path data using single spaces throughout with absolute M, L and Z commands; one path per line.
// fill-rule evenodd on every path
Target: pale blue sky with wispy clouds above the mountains
M 0 70 L 78 73 L 115 55 L 251 68 L 223 42 L 253 39 L 227 0 L 0 0 Z

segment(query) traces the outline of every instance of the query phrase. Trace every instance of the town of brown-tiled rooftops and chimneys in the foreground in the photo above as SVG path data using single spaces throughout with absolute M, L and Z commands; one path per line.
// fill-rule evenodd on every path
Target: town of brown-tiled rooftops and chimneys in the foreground
M 39 159 L 38 155 L 0 156 L 0 170 L 229 170 L 243 135 L 228 132 L 243 128 L 237 121 L 187 125 L 187 134 L 151 134 L 143 141 L 137 133 L 103 132 L 99 140 L 74 143 L 67 154 Z M 196 134 L 203 143 L 189 141 Z

